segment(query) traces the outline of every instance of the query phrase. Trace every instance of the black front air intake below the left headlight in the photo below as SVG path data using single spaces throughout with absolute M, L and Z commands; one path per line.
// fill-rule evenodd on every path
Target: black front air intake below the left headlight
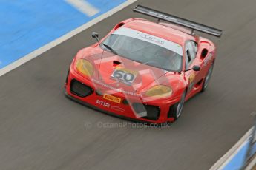
M 70 84 L 70 92 L 84 98 L 91 95 L 93 93 L 93 89 L 90 86 L 86 86 L 85 84 L 73 79 Z

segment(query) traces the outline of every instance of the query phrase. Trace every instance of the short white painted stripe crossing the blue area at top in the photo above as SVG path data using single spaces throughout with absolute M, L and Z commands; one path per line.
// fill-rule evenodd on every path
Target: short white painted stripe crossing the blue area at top
M 86 16 L 95 16 L 99 13 L 99 9 L 93 7 L 93 5 L 89 4 L 85 0 L 65 0 L 68 4 L 71 4 L 81 13 L 84 13 Z

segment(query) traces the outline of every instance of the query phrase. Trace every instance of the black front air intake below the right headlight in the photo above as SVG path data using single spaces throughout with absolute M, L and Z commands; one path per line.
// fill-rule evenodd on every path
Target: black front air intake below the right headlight
M 148 120 L 157 120 L 160 116 L 160 108 L 158 106 L 146 105 L 142 103 L 133 103 L 134 111 L 137 114 L 145 113 L 146 116 L 142 116 L 142 118 Z

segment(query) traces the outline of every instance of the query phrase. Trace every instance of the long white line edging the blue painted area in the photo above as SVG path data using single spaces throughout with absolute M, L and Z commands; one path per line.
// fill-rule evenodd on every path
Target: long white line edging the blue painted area
M 14 61 L 12 64 L 9 64 L 6 67 L 0 69 L 0 76 L 6 74 L 7 72 L 10 72 L 13 69 L 16 69 L 17 67 L 26 63 L 27 61 L 30 61 L 33 58 L 38 57 L 39 55 L 46 52 L 47 50 L 50 50 L 51 48 L 56 47 L 57 45 L 68 40 L 69 38 L 73 37 L 74 35 L 81 33 L 83 30 L 86 30 L 89 27 L 93 26 L 94 24 L 98 23 L 99 21 L 102 21 L 103 19 L 108 18 L 109 16 L 112 16 L 114 13 L 118 12 L 119 10 L 122 10 L 123 8 L 127 7 L 130 4 L 133 4 L 135 1 L 137 1 L 137 0 L 125 1 L 124 3 L 120 4 L 119 6 L 114 7 L 112 10 L 109 10 L 107 13 L 104 13 L 101 16 L 98 16 L 91 21 L 88 21 L 87 23 L 76 28 L 75 30 L 70 31 L 69 33 L 63 35 L 60 38 L 57 38 L 54 41 L 51 41 L 49 44 L 46 44 L 45 46 L 40 47 L 39 49 L 29 53 L 28 55 L 25 55 L 23 58 L 20 58 L 19 60 Z

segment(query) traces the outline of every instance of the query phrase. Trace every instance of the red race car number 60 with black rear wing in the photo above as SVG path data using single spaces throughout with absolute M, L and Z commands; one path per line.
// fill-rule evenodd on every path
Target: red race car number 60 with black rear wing
M 188 98 L 206 90 L 214 68 L 215 45 L 194 30 L 222 31 L 140 5 L 134 11 L 157 23 L 130 18 L 101 40 L 93 33 L 97 43 L 73 58 L 65 94 L 121 118 L 173 122 Z

